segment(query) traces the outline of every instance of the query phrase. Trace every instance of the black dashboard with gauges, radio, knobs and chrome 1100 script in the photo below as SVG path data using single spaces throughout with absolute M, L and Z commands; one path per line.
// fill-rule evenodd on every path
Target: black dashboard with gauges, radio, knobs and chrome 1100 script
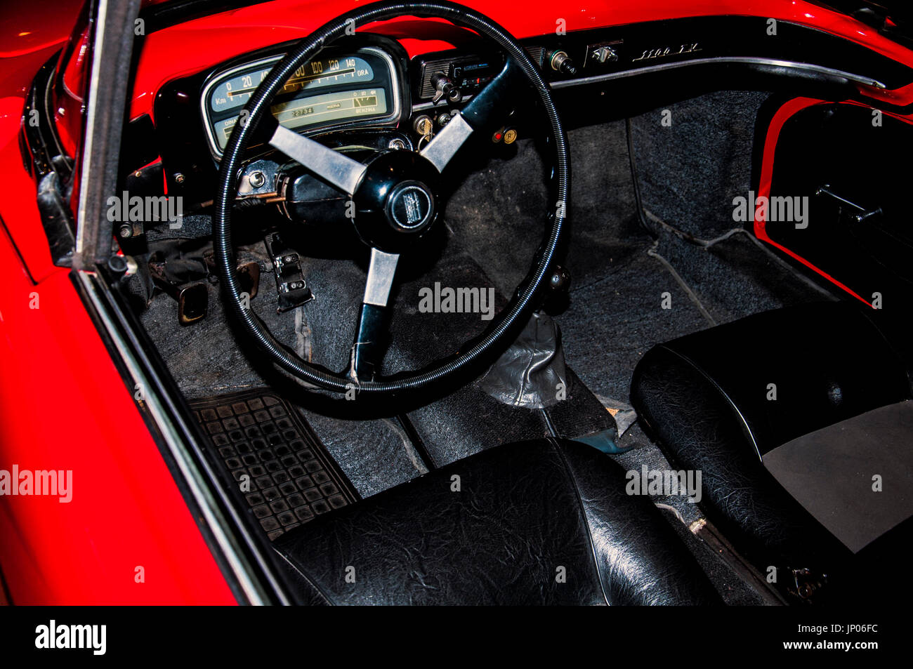
M 895 90 L 913 82 L 913 69 L 848 40 L 786 22 L 771 39 L 767 27 L 762 17 L 703 16 L 520 42 L 551 85 L 567 128 L 727 87 L 778 90 L 792 82 L 804 93 L 829 87 L 820 94 L 843 99 L 860 88 Z M 169 193 L 201 204 L 211 200 L 239 113 L 295 44 L 252 49 L 166 81 L 154 98 L 154 124 L 148 115 L 129 124 L 137 154 L 132 169 L 159 155 L 159 183 L 164 178 Z M 286 128 L 339 150 L 420 150 L 503 63 L 503 54 L 473 38 L 409 57 L 397 38 L 360 33 L 324 48 L 299 68 L 270 111 Z M 489 138 L 494 152 L 536 136 L 534 103 L 514 102 L 514 110 L 505 110 L 505 125 Z M 150 137 L 155 145 L 146 147 Z M 257 141 L 255 133 L 248 163 L 270 153 L 267 140 Z

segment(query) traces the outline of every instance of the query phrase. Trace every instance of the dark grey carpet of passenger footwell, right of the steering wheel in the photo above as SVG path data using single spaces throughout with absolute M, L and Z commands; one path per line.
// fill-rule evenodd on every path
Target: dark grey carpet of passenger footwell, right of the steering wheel
M 571 134 L 581 183 L 572 206 L 571 305 L 558 322 L 568 362 L 596 394 L 626 401 L 637 361 L 662 341 L 831 297 L 744 233 L 712 246 L 683 239 L 716 239 L 739 225 L 732 198 L 750 190 L 754 120 L 767 97 L 712 93 L 670 106 L 669 127 L 661 110 L 632 120 L 656 240 L 636 223 L 624 121 Z M 602 171 L 585 169 L 606 162 Z M 671 308 L 662 308 L 665 293 Z

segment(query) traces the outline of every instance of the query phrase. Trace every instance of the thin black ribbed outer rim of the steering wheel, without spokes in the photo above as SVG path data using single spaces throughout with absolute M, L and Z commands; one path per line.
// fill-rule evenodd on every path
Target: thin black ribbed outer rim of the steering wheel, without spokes
M 376 21 L 398 16 L 424 16 L 445 18 L 452 23 L 468 27 L 481 37 L 487 37 L 503 48 L 509 58 L 519 66 L 530 85 L 539 96 L 542 108 L 551 130 L 554 142 L 553 195 L 554 209 L 546 212 L 548 231 L 544 242 L 534 256 L 530 274 L 520 284 L 507 307 L 501 310 L 488 330 L 474 341 L 464 352 L 455 357 L 437 361 L 430 367 L 418 371 L 405 371 L 379 380 L 361 380 L 358 392 L 382 395 L 394 392 L 415 391 L 442 382 L 467 366 L 478 361 L 498 345 L 506 335 L 525 322 L 534 298 L 546 281 L 555 255 L 561 244 L 562 232 L 570 193 L 570 158 L 567 138 L 551 99 L 551 90 L 541 78 L 525 50 L 509 33 L 486 16 L 463 5 L 449 2 L 377 2 L 341 15 L 320 26 L 309 37 L 304 37 L 299 46 L 291 51 L 272 69 L 248 100 L 244 111 L 246 123 L 236 123 L 223 154 L 215 197 L 214 246 L 216 269 L 219 273 L 228 307 L 243 329 L 252 337 L 257 347 L 268 355 L 270 361 L 282 370 L 304 382 L 308 387 L 333 392 L 352 390 L 352 378 L 335 373 L 301 359 L 292 350 L 272 336 L 266 325 L 249 308 L 249 301 L 243 300 L 236 279 L 234 267 L 235 250 L 231 235 L 231 209 L 236 193 L 236 174 L 242 156 L 250 141 L 257 122 L 269 114 L 269 102 L 289 76 L 301 64 L 315 57 L 320 49 L 353 29 Z

